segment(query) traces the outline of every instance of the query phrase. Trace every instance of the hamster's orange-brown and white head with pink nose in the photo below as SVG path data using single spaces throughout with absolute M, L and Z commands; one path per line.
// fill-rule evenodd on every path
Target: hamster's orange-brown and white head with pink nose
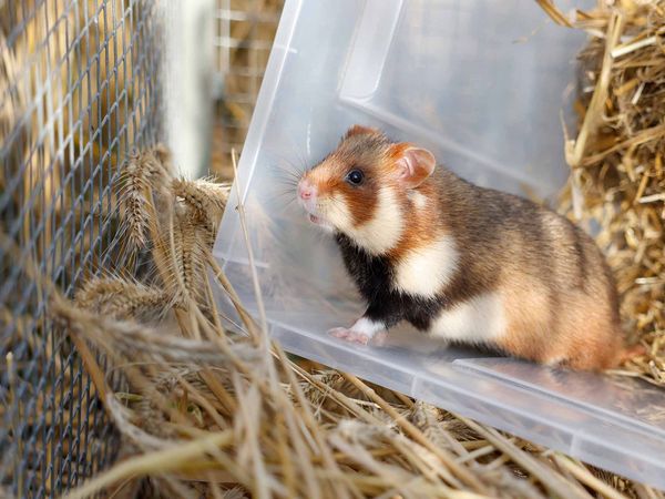
M 401 237 L 406 200 L 434 167 L 429 151 L 355 125 L 332 153 L 305 172 L 298 182 L 298 202 L 310 222 L 381 254 Z

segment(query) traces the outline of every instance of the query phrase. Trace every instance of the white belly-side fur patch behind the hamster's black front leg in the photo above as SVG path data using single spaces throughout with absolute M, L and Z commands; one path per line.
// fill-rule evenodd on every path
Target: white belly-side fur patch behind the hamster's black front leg
M 501 296 L 485 293 L 441 312 L 430 334 L 466 343 L 494 343 L 505 334 L 505 326 Z

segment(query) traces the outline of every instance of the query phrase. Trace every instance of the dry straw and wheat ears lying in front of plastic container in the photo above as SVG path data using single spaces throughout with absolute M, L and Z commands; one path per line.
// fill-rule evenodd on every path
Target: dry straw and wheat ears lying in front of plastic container
M 167 162 L 145 152 L 126 171 L 146 157 Z M 68 498 L 102 490 L 114 497 L 664 497 L 352 375 L 295 363 L 243 309 L 212 256 L 218 212 L 197 207 L 224 206 L 228 189 L 209 181 L 185 186 L 168 167 L 158 171 L 141 194 L 145 244 L 127 247 L 135 258 L 149 257 L 145 282 L 102 276 L 76 302 L 57 296 L 51 307 L 125 444 L 121 461 Z M 131 197 L 131 185 L 123 183 L 120 198 Z M 170 211 L 158 213 L 157 205 Z M 121 211 L 126 226 L 134 215 Z M 197 262 L 188 277 L 187 258 Z M 245 334 L 217 320 L 208 275 L 226 289 Z M 160 293 L 160 313 L 146 313 L 154 303 L 143 297 Z M 112 374 L 123 374 L 122 393 L 112 391 L 94 350 L 110 359 Z

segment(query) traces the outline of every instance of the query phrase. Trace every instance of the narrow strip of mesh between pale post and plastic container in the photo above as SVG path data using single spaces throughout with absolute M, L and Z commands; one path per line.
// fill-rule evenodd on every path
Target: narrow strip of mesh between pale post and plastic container
M 231 151 L 242 150 L 268 62 L 284 0 L 216 0 L 217 71 L 213 167 L 232 176 Z

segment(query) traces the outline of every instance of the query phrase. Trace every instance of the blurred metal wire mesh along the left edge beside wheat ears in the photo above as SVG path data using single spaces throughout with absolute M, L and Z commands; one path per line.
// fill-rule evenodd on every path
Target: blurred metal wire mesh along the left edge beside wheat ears
M 142 0 L 0 0 L 0 496 L 54 497 L 117 439 L 48 296 L 117 266 L 113 182 L 162 138 L 163 16 Z M 114 383 L 113 380 L 111 380 Z

